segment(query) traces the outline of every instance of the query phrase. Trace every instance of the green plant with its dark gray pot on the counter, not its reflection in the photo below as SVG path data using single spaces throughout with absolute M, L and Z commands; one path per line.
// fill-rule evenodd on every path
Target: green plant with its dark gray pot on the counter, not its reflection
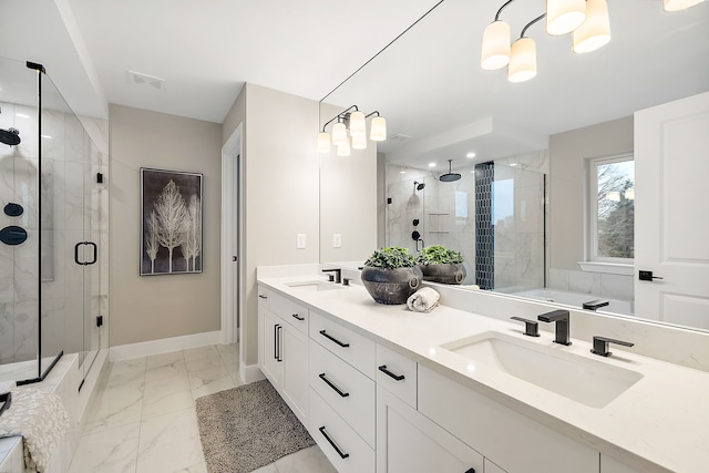
M 400 246 L 376 250 L 362 268 L 362 284 L 379 304 L 405 304 L 419 289 L 423 275 L 417 260 Z

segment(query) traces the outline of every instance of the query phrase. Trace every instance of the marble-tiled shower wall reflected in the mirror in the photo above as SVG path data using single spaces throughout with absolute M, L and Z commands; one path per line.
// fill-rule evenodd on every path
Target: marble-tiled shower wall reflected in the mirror
M 443 245 L 461 251 L 467 277 L 475 284 L 475 182 L 474 164 L 458 168 L 461 179 L 441 183 L 440 173 L 388 165 L 386 169 L 387 245 L 399 245 L 415 254 L 411 234 L 423 244 Z M 495 248 L 495 287 L 544 286 L 544 228 L 542 174 L 548 173 L 548 152 L 540 151 L 495 160 L 495 179 L 514 177 L 514 225 L 495 230 L 508 244 Z M 425 184 L 415 191 L 414 182 Z M 413 220 L 419 225 L 413 226 Z M 421 244 L 419 244 L 421 247 Z

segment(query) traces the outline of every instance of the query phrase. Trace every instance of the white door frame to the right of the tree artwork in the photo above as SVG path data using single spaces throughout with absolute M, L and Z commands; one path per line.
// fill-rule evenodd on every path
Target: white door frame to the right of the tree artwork
M 244 340 L 243 323 L 243 124 L 222 146 L 222 343 Z M 236 269 L 233 257 L 236 256 Z M 240 343 L 243 346 L 244 343 Z M 243 359 L 239 347 L 239 362 Z

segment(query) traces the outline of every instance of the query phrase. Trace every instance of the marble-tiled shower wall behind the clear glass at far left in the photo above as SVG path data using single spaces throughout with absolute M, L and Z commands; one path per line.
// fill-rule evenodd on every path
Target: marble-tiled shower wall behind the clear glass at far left
M 107 237 L 107 192 L 91 185 L 96 172 L 106 172 L 107 161 L 92 145 L 75 116 L 44 111 L 40 185 L 37 110 L 11 103 L 0 106 L 3 112 L 0 127 L 14 126 L 22 137 L 18 146 L 0 145 L 0 200 L 3 207 L 14 202 L 24 208 L 20 217 L 1 214 L 0 225 L 19 225 L 28 230 L 28 240 L 23 244 L 0 245 L 0 363 L 37 356 L 40 273 L 43 354 L 53 357 L 62 349 L 78 352 L 83 347 L 83 320 L 76 315 L 83 313 L 85 302 L 81 297 L 83 268 L 73 263 L 74 244 Z M 41 270 L 38 267 L 40 192 Z M 84 234 L 84 227 L 94 228 L 94 235 Z M 103 250 L 107 245 L 99 247 Z M 92 268 L 91 276 L 92 287 L 100 288 L 97 266 Z M 103 288 L 95 292 L 105 294 Z M 100 296 L 95 299 L 93 305 L 104 304 Z

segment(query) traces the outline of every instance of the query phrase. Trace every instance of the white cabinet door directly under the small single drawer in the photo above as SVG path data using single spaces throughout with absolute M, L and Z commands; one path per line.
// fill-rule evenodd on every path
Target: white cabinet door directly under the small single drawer
M 378 473 L 483 473 L 483 456 L 377 387 Z

